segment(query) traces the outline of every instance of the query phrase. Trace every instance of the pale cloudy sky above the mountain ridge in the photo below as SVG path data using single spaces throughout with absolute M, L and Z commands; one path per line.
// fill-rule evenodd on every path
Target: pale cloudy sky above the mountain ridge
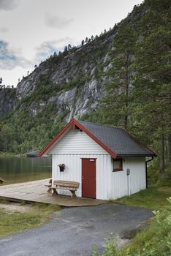
M 0 0 L 0 78 L 17 86 L 34 65 L 126 18 L 142 0 Z

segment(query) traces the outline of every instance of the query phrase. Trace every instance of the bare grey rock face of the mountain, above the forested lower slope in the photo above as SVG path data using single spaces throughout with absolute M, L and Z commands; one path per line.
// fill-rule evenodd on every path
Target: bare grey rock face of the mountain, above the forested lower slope
M 15 101 L 0 99 L 0 115 L 12 110 L 16 99 L 21 103 L 17 111 L 28 110 L 33 117 L 43 114 L 50 105 L 53 109 L 50 118 L 54 121 L 58 116 L 69 121 L 95 110 L 104 96 L 105 83 L 110 80 L 106 73 L 111 68 L 112 47 L 113 34 L 107 34 L 74 52 L 69 51 L 59 61 L 57 56 L 50 57 L 18 83 Z

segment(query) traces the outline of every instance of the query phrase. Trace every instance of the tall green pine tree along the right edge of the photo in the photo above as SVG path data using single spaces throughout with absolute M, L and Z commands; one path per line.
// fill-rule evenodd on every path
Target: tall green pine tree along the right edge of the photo
M 137 77 L 134 83 L 136 126 L 142 136 L 160 144 L 160 172 L 164 173 L 164 144 L 171 119 L 171 20 L 170 1 L 146 0 L 148 11 L 140 23 L 137 44 Z M 139 131 L 140 132 L 140 131 Z

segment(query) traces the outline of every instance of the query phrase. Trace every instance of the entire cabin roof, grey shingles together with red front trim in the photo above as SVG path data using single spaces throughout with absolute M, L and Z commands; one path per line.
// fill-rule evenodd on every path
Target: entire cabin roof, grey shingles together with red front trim
M 90 125 L 88 125 L 90 124 Z M 92 124 L 92 126 L 91 126 Z M 94 124 L 90 123 L 88 121 L 77 121 L 75 118 L 72 118 L 71 121 L 69 121 L 66 126 L 61 129 L 61 132 L 59 132 L 53 140 L 50 141 L 50 143 L 45 146 L 45 148 L 42 149 L 42 151 L 39 152 L 39 157 L 41 157 L 43 154 L 45 154 L 50 148 L 53 147 L 53 144 L 58 142 L 58 139 L 61 138 L 62 135 L 65 135 L 65 133 L 70 129 L 70 127 L 73 128 L 78 127 L 83 130 L 83 132 L 86 132 L 86 134 L 93 139 L 96 143 L 99 144 L 102 148 L 104 148 L 105 151 L 107 151 L 108 154 L 111 155 L 114 159 L 118 156 L 134 156 L 134 157 L 150 157 L 150 156 L 156 156 L 156 154 L 151 151 L 150 148 L 147 148 L 147 146 L 142 145 L 140 140 L 137 140 L 137 138 L 134 138 L 134 136 L 130 135 L 129 132 L 122 128 L 118 127 L 110 127 L 106 125 L 101 124 Z M 100 129 L 100 127 L 105 127 L 107 129 Z M 116 131 L 118 129 L 118 131 Z M 104 132 L 104 135 L 103 135 Z M 123 136 L 123 133 L 126 135 Z M 113 136 L 111 136 L 113 135 Z M 134 142 L 134 143 L 133 143 Z M 140 144 L 141 143 L 141 144 Z

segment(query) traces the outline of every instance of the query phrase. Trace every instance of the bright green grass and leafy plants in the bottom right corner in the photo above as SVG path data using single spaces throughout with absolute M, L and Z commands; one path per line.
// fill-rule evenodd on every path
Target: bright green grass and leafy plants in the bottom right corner
M 154 211 L 156 215 L 145 230 L 137 233 L 131 244 L 119 249 L 115 238 L 110 238 L 101 256 L 170 256 L 171 252 L 171 197 L 170 205 L 164 211 Z M 99 255 L 93 249 L 93 256 Z

